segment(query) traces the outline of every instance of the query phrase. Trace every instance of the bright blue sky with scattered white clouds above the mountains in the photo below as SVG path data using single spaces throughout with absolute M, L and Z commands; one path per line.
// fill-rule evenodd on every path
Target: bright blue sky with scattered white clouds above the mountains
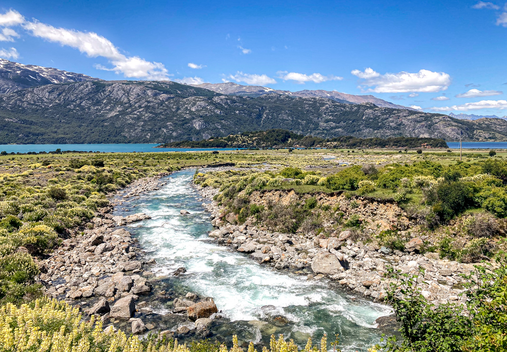
M 507 114 L 507 3 L 0 1 L 0 57 L 104 80 L 372 94 Z

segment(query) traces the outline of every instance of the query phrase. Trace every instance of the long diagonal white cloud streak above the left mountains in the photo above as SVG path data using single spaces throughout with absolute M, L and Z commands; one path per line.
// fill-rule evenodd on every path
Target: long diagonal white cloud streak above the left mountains
M 81 32 L 74 29 L 56 28 L 38 21 L 25 22 L 23 28 L 31 35 L 44 38 L 62 46 L 78 49 L 89 57 L 104 57 L 114 65 L 106 68 L 95 65 L 98 69 L 123 73 L 127 78 L 141 78 L 147 80 L 167 80 L 169 74 L 160 62 L 150 62 L 138 56 L 127 57 L 120 53 L 107 38 L 94 32 Z

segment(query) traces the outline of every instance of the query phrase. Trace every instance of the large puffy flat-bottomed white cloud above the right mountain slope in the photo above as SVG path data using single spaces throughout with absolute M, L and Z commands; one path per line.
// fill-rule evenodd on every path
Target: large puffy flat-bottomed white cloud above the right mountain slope
M 449 74 L 425 69 L 417 73 L 402 71 L 379 74 L 367 68 L 365 71 L 353 70 L 351 73 L 364 79 L 364 86 L 373 87 L 366 92 L 375 93 L 439 92 L 446 90 L 451 84 Z

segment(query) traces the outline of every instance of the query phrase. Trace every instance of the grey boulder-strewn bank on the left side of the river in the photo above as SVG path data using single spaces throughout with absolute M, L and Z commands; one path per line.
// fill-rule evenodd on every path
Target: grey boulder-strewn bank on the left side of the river
M 95 213 L 92 228 L 71 232 L 70 238 L 42 260 L 39 280 L 45 294 L 80 307 L 86 315 L 99 315 L 106 330 L 121 328 L 143 334 L 171 326 L 161 334 L 179 338 L 205 331 L 211 323 L 209 317 L 218 311 L 212 298 L 191 292 L 180 298 L 168 296 L 160 289 L 160 278 L 149 271 L 155 261 L 137 258 L 141 249 L 123 226 L 150 217 L 143 213 L 126 217 L 111 214 L 115 206 L 159 189 L 165 184 L 162 177 L 167 175 L 137 180 L 111 194 L 110 205 Z M 180 268 L 173 275 L 183 272 L 185 268 Z M 149 303 L 153 296 L 173 299 L 172 311 L 156 317 Z

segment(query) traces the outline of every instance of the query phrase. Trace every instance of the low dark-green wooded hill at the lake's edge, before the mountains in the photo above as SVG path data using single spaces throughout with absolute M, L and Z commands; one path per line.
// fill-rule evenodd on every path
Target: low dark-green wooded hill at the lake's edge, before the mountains
M 200 141 L 178 141 L 161 144 L 158 148 L 447 148 L 447 143 L 438 138 L 389 137 L 356 138 L 341 136 L 320 138 L 304 136 L 283 129 L 243 132 L 227 137 L 210 137 Z

